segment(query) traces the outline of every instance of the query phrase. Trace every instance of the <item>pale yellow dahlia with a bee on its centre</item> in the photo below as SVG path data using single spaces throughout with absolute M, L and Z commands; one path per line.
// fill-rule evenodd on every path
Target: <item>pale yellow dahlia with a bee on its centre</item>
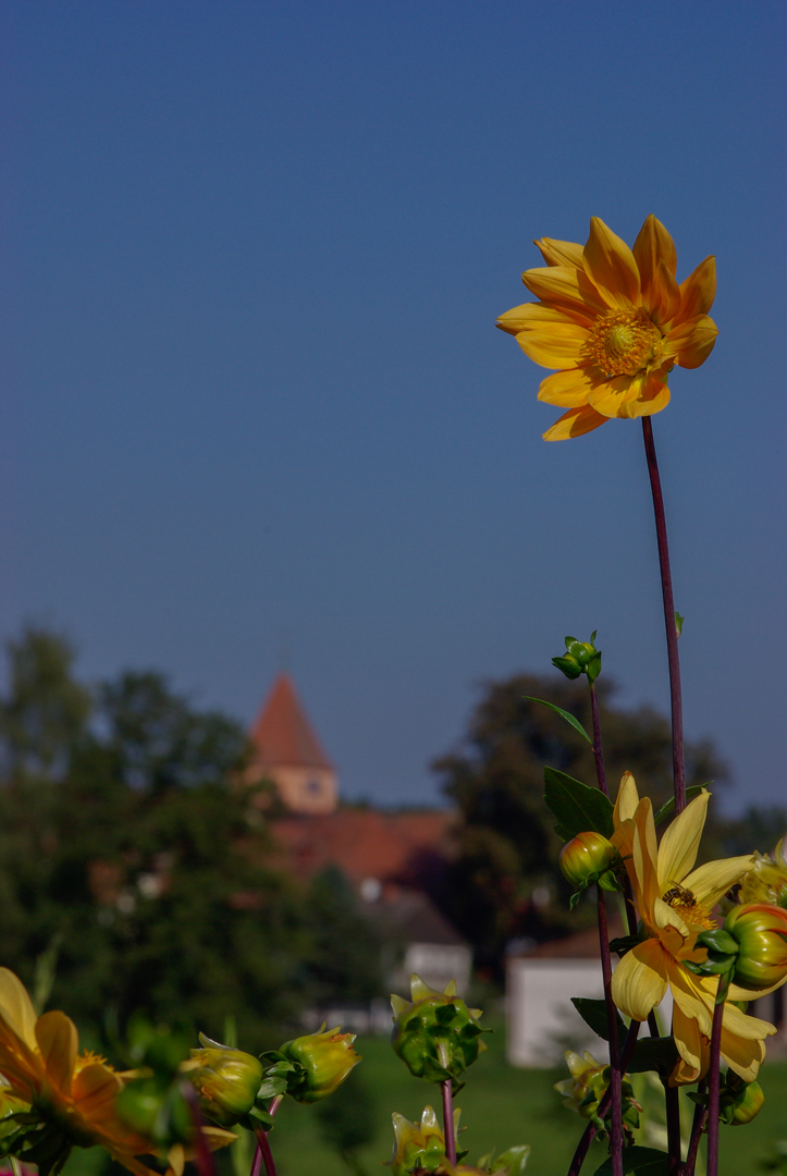
M 614 809 L 612 842 L 626 860 L 634 903 L 645 938 L 622 957 L 612 974 L 612 997 L 626 1016 L 645 1021 L 671 989 L 672 1030 L 681 1056 L 673 1081 L 696 1082 L 708 1064 L 708 1043 L 718 981 L 693 975 L 685 961 L 706 957 L 698 935 L 716 926 L 712 910 L 722 894 L 746 873 L 752 855 L 706 862 L 694 869 L 705 828 L 707 791 L 674 818 L 656 842 L 653 806 L 639 799 L 631 773 L 621 780 Z M 776 1030 L 727 1002 L 721 1056 L 745 1082 L 752 1082 L 765 1058 L 763 1038 Z

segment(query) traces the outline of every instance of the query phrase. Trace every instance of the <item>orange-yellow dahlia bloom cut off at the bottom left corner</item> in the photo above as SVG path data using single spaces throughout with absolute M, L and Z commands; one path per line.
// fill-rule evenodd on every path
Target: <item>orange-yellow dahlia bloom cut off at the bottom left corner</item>
M 136 1176 L 155 1176 L 134 1157 L 152 1150 L 149 1140 L 115 1114 L 124 1076 L 91 1053 L 78 1056 L 79 1037 L 65 1013 L 35 1016 L 13 971 L 0 968 L 0 1075 L 4 1095 L 27 1103 L 52 1135 L 56 1171 L 74 1145 L 100 1144 Z

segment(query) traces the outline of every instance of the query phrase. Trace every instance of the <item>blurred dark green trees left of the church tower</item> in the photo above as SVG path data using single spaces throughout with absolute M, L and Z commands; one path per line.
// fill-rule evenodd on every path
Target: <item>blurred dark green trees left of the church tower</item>
M 214 1037 L 234 1015 L 259 1050 L 305 1001 L 346 990 L 333 918 L 353 937 L 356 990 L 376 982 L 347 902 L 339 918 L 346 895 L 318 886 L 306 902 L 269 867 L 265 822 L 238 784 L 235 723 L 156 674 L 91 694 L 51 634 L 28 630 L 9 654 L 0 935 L 4 964 L 41 1007 L 66 1008 L 106 1045 L 136 1009 Z

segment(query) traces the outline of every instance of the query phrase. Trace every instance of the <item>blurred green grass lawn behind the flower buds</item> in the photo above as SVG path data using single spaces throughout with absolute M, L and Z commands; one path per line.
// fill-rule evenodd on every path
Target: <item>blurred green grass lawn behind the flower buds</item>
M 489 1051 L 469 1071 L 467 1087 L 456 1103 L 462 1109 L 462 1147 L 469 1149 L 471 1163 L 496 1147 L 502 1150 L 514 1143 L 533 1148 L 528 1172 L 533 1176 L 565 1176 L 574 1148 L 582 1134 L 579 1116 L 566 1110 L 553 1082 L 566 1073 L 520 1070 L 509 1067 L 503 1053 L 502 1027 L 486 1038 Z M 394 1056 L 386 1038 L 359 1038 L 356 1049 L 364 1062 L 356 1074 L 374 1096 L 375 1140 L 359 1158 L 368 1176 L 380 1171 L 380 1163 L 391 1158 L 393 1131 L 391 1112 L 409 1120 L 420 1117 L 423 1105 L 438 1108 L 436 1087 L 411 1077 Z M 766 1063 L 760 1076 L 766 1103 L 749 1127 L 721 1128 L 721 1172 L 723 1176 L 752 1176 L 759 1170 L 760 1156 L 773 1141 L 787 1136 L 787 1063 Z M 271 1136 L 279 1176 L 348 1176 L 348 1168 L 326 1147 L 319 1134 L 314 1111 L 288 1101 Z M 595 1171 L 606 1150 L 593 1144 L 583 1172 Z

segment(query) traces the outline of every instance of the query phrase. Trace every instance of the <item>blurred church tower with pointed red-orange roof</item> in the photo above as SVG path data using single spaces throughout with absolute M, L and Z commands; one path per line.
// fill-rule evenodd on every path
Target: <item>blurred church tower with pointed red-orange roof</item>
M 280 674 L 249 731 L 248 783 L 272 780 L 293 813 L 333 813 L 336 773 L 287 674 Z

